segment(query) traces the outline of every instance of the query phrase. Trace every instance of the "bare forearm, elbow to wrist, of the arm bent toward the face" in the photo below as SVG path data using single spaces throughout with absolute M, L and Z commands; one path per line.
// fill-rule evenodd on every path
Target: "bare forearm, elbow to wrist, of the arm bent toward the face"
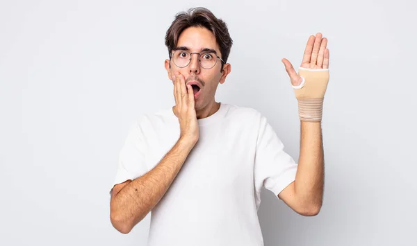
M 194 144 L 179 139 L 152 170 L 124 186 L 111 201 L 113 223 L 129 232 L 145 218 L 172 184 Z

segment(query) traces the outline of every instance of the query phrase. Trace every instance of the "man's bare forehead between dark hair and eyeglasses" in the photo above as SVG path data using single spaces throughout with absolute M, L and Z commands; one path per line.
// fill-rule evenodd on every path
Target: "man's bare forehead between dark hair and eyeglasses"
M 215 36 L 204 27 L 189 27 L 179 35 L 177 47 L 186 46 L 190 51 L 199 52 L 203 49 L 214 49 L 220 53 Z

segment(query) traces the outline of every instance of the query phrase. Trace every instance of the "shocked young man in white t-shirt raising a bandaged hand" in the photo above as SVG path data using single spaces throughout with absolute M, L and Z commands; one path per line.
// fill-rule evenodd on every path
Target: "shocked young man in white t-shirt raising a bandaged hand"
M 304 216 L 320 211 L 324 183 L 322 101 L 329 50 L 311 36 L 291 78 L 301 120 L 299 163 L 255 109 L 215 101 L 231 71 L 226 24 L 197 8 L 167 30 L 172 109 L 142 115 L 120 152 L 111 222 L 126 234 L 152 211 L 149 245 L 263 245 L 257 210 L 268 188 Z

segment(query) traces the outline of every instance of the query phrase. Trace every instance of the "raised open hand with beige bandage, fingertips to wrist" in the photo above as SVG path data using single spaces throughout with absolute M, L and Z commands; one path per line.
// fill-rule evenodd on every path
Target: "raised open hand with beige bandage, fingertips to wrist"
M 301 121 L 320 122 L 323 101 L 329 82 L 329 49 L 327 38 L 322 34 L 311 35 L 306 44 L 304 57 L 298 73 L 291 62 L 282 59 L 298 101 Z

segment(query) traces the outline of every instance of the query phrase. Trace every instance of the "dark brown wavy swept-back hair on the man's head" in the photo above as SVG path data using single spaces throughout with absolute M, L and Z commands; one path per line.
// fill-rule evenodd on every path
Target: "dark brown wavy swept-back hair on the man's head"
M 179 12 L 175 15 L 174 21 L 170 28 L 168 28 L 165 35 L 165 45 L 168 48 L 168 53 L 171 59 L 172 50 L 177 47 L 179 35 L 189 27 L 204 27 L 213 33 L 215 40 L 220 47 L 222 53 L 222 60 L 227 62 L 233 40 L 230 37 L 227 24 L 213 15 L 213 12 L 207 8 L 190 8 L 187 11 Z M 223 62 L 220 71 L 223 70 Z

